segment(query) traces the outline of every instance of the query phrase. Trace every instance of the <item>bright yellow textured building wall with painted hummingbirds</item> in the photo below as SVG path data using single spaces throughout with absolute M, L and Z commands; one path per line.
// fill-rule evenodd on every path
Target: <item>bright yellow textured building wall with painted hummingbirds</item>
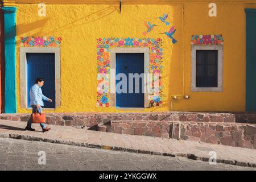
M 23 1 L 24 2 L 24 1 Z M 22 36 L 62 37 L 61 43 L 61 106 L 47 112 L 106 111 L 126 112 L 114 107 L 96 107 L 97 65 L 96 39 L 123 37 L 142 38 L 144 20 L 160 24 L 155 17 L 170 13 L 168 20 L 177 31 L 176 44 L 159 32 L 165 26 L 155 28 L 148 38 L 163 39 L 163 105 L 139 111 L 170 111 L 171 95 L 183 93 L 183 16 L 184 6 L 184 94 L 190 98 L 173 101 L 174 110 L 179 111 L 244 111 L 245 110 L 245 5 L 241 1 L 233 4 L 217 2 L 217 17 L 208 16 L 209 2 L 177 1 L 163 5 L 52 5 L 47 4 L 46 17 L 38 16 L 37 4 L 15 4 L 16 43 L 16 94 L 18 113 L 30 111 L 20 108 L 19 47 Z M 6 4 L 7 5 L 7 4 Z M 6 6 L 5 5 L 5 6 Z M 110 7 L 111 6 L 111 7 Z M 117 10 L 97 19 L 93 14 L 105 8 Z M 250 7 L 256 7 L 250 5 Z M 89 20 L 84 19 L 87 16 Z M 71 24 L 80 19 L 77 24 Z M 60 30 L 59 27 L 67 26 Z M 169 27 L 168 27 L 169 28 Z M 191 35 L 222 34 L 224 37 L 223 92 L 191 92 Z M 127 112 L 133 112 L 128 110 Z

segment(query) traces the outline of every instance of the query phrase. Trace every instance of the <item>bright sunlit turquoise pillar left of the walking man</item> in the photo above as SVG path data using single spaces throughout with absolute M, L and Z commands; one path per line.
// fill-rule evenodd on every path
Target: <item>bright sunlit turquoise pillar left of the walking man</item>
M 2 7 L 5 27 L 5 113 L 16 113 L 16 7 Z

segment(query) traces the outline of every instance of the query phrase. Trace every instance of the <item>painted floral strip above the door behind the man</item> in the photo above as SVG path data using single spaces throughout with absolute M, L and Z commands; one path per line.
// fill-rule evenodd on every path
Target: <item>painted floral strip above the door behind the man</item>
M 58 47 L 62 41 L 61 37 L 45 37 L 45 36 L 24 36 L 20 38 L 20 46 L 22 47 Z

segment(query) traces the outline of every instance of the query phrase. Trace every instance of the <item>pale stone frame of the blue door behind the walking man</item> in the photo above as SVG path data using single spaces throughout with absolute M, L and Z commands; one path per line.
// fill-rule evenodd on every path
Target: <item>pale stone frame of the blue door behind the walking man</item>
M 20 47 L 20 107 L 27 110 L 27 57 L 26 53 L 55 53 L 55 108 L 45 108 L 55 110 L 60 107 L 60 48 L 48 47 Z

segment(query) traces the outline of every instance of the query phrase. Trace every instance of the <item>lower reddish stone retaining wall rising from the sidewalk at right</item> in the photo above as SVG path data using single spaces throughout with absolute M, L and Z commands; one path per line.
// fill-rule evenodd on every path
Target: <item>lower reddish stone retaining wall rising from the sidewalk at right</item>
M 179 138 L 256 149 L 256 125 L 220 122 L 111 121 L 100 123 L 98 131 L 119 134 Z M 174 130 L 174 132 L 172 132 Z M 172 136 L 172 133 L 174 135 Z

